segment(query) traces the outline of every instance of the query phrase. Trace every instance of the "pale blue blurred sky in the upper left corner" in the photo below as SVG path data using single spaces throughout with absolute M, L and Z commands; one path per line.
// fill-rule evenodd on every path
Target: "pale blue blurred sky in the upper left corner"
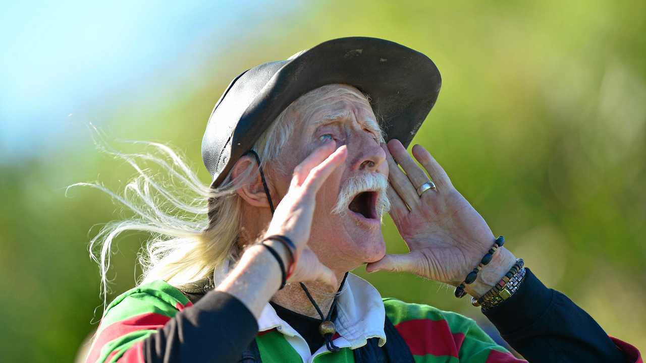
M 61 142 L 70 114 L 132 84 L 173 76 L 205 37 L 216 49 L 240 19 L 282 11 L 268 1 L 14 1 L 0 12 L 0 165 Z M 248 31 L 248 30 L 247 30 Z M 213 34 L 222 32 L 223 36 Z M 218 41 L 222 43 L 218 43 Z M 200 59 L 185 57 L 182 65 Z M 184 68 L 185 68 L 184 67 Z M 143 82 L 142 82 L 143 81 Z

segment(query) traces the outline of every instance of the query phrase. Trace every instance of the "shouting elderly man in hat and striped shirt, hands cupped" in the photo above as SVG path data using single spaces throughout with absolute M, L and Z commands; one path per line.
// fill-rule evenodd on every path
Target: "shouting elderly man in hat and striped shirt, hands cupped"
M 428 57 L 368 37 L 333 39 L 236 77 L 203 139 L 210 187 L 172 170 L 208 198 L 207 225 L 164 214 L 148 187 L 176 209 L 193 205 L 144 178 L 148 187 L 135 190 L 149 212 L 136 209 L 138 228 L 162 237 L 149 245 L 142 284 L 105 310 L 88 361 L 520 361 L 473 320 L 384 299 L 348 273 L 367 264 L 472 296 L 531 362 L 641 362 L 541 284 L 424 147 L 412 148 L 422 168 L 406 152 L 440 84 Z M 386 254 L 388 211 L 408 254 Z M 123 229 L 103 234 L 103 278 Z

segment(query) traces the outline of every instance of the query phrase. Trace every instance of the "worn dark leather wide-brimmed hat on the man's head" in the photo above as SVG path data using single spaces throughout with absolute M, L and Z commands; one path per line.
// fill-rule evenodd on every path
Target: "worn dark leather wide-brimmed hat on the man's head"
M 216 188 L 280 112 L 298 97 L 331 83 L 370 95 L 387 140 L 408 146 L 439 94 L 431 59 L 398 43 L 345 37 L 320 43 L 285 61 L 242 72 L 220 97 L 204 132 L 202 158 Z

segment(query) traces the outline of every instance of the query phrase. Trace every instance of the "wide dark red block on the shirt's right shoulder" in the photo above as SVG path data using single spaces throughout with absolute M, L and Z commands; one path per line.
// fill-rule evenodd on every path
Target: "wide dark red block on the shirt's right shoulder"
M 413 355 L 458 357 L 464 333 L 451 333 L 446 320 L 413 319 L 395 326 Z

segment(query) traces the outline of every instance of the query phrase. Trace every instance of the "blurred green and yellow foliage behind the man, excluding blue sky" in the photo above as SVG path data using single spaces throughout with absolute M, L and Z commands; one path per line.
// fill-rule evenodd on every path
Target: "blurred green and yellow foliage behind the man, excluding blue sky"
M 184 81 L 148 79 L 152 96 L 123 90 L 79 110 L 68 127 L 91 121 L 114 138 L 169 143 L 207 182 L 202 132 L 238 72 L 334 37 L 397 41 L 430 56 L 443 76 L 415 142 L 433 152 L 545 284 L 565 292 L 610 335 L 644 349 L 645 10 L 646 3 L 631 1 L 312 2 L 296 16 L 276 14 L 253 25 L 240 19 L 214 32 L 231 41 L 215 50 L 196 45 L 203 51 L 194 56 L 203 62 Z M 65 187 L 98 179 L 118 189 L 132 171 L 99 154 L 89 132 L 2 168 L 2 360 L 68 362 L 101 315 L 89 236 L 96 223 L 127 212 L 89 189 L 66 198 Z M 390 220 L 384 233 L 391 252 L 406 251 Z M 134 284 L 134 256 L 144 239 L 120 239 L 110 298 Z M 357 273 L 384 296 L 482 320 L 442 285 Z

